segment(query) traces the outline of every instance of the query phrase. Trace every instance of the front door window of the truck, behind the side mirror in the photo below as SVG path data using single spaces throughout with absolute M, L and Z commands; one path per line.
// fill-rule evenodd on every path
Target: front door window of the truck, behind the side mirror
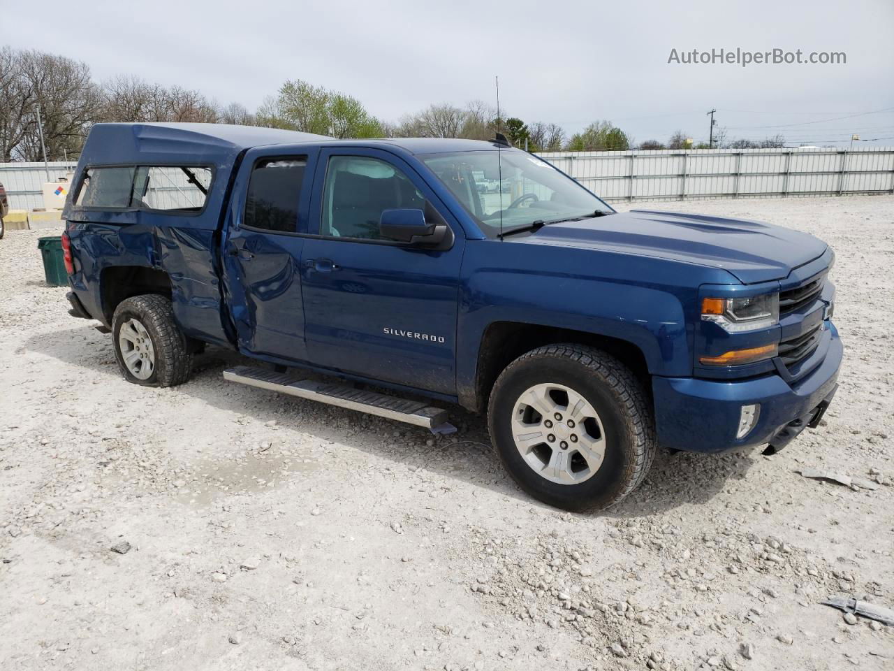
M 320 234 L 382 240 L 379 217 L 383 210 L 425 207 L 422 193 L 390 163 L 371 157 L 331 157 L 326 168 Z

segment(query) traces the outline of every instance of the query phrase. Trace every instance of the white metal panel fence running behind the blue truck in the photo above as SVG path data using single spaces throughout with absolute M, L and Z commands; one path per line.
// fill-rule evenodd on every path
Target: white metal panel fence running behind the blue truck
M 894 194 L 894 148 L 664 149 L 544 152 L 539 156 L 604 200 Z M 74 163 L 50 163 L 49 181 Z M 42 163 L 0 163 L 10 207 L 43 208 Z

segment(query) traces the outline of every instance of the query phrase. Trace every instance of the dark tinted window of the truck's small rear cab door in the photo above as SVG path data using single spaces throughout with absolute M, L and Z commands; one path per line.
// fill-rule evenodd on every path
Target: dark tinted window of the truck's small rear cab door
M 245 224 L 279 233 L 297 233 L 301 184 L 308 157 L 265 158 L 255 164 L 245 202 Z

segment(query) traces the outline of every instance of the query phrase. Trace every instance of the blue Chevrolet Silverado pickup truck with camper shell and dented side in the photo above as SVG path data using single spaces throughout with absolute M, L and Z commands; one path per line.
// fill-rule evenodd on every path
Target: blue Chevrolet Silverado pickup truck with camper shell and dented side
M 212 344 L 251 360 L 233 382 L 436 433 L 458 403 L 571 510 L 626 497 L 658 446 L 772 454 L 837 388 L 824 242 L 615 212 L 502 136 L 102 123 L 69 199 L 70 312 L 131 382 L 182 384 Z

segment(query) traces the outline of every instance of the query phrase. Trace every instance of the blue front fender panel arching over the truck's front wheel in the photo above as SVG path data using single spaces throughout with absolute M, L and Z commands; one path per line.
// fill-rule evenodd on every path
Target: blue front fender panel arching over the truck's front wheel
M 635 345 L 653 375 L 691 375 L 693 327 L 686 316 L 697 297 L 695 288 L 680 285 L 680 275 L 679 266 L 662 259 L 469 241 L 457 328 L 458 395 L 475 394 L 478 348 L 487 327 L 500 321 L 616 338 Z M 695 275 L 687 282 L 697 283 Z

